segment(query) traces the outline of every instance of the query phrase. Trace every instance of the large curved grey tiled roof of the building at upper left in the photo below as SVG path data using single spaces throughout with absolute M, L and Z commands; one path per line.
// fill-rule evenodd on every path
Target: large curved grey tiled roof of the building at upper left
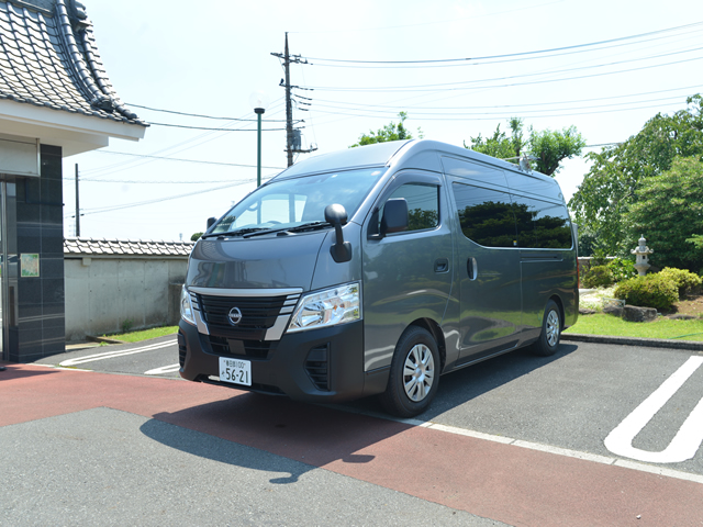
M 112 88 L 76 0 L 0 0 L 1 99 L 147 126 Z

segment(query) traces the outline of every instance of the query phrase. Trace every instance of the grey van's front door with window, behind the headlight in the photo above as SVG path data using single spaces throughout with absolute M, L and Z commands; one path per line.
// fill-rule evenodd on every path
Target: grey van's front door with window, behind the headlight
M 408 229 L 381 236 L 383 205 L 408 202 Z M 442 324 L 451 293 L 453 244 L 446 193 L 434 175 L 399 173 L 377 201 L 362 235 L 366 371 L 387 368 L 409 324 Z

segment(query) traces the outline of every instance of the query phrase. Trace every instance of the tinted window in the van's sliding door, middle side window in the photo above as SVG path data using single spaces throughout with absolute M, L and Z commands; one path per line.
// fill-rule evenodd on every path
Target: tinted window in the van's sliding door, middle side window
M 515 216 L 506 192 L 454 183 L 461 232 L 486 247 L 517 247 Z

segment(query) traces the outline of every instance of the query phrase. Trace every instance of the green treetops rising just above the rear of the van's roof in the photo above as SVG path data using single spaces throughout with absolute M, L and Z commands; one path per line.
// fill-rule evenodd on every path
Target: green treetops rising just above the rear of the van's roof
M 529 127 L 529 137 L 523 137 L 523 120 L 512 117 L 509 120 L 511 135 L 501 132 L 500 124 L 491 137 L 471 137 L 471 146 L 464 146 L 472 150 L 488 154 L 489 156 L 505 159 L 517 165 L 521 156 L 536 158 L 535 170 L 553 176 L 559 171 L 559 164 L 563 159 L 581 155 L 585 141 L 576 126 L 569 126 L 561 131 L 544 130 L 542 132 Z M 524 152 L 526 148 L 526 152 Z

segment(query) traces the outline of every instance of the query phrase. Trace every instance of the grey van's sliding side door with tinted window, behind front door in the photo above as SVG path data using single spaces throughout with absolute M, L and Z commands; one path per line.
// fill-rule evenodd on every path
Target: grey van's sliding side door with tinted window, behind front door
M 455 181 L 460 362 L 513 348 L 522 324 L 520 250 L 510 194 Z

